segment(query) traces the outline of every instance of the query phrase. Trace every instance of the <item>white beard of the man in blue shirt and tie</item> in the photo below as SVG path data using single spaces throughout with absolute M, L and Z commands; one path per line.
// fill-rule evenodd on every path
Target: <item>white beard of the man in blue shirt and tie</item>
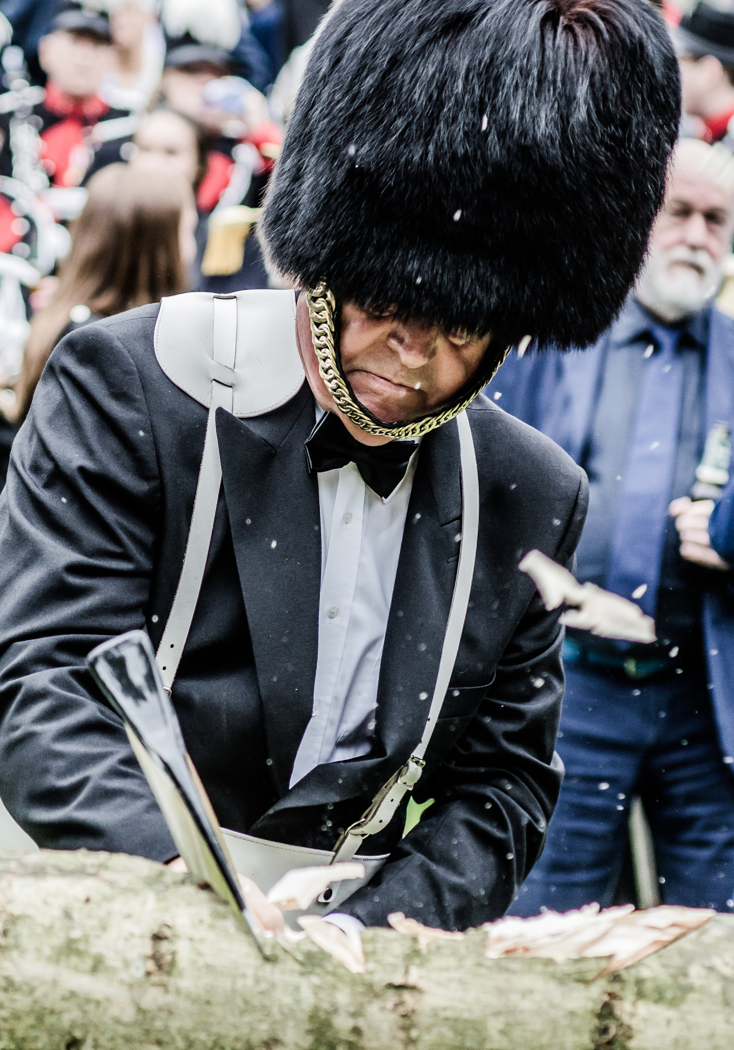
M 688 266 L 675 264 L 687 262 Z M 679 245 L 651 252 L 635 294 L 642 304 L 664 321 L 675 322 L 697 314 L 721 284 L 722 264 L 704 248 Z

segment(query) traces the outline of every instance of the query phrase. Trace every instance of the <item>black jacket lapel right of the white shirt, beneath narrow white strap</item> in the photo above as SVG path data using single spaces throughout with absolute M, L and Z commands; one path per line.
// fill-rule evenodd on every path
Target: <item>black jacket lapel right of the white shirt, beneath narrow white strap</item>
M 267 837 L 269 817 L 285 810 L 372 796 L 410 757 L 436 684 L 460 525 L 459 436 L 452 422 L 421 444 L 387 618 L 375 747 L 368 757 L 316 766 L 260 818 L 253 834 Z M 315 656 L 312 685 L 314 673 Z

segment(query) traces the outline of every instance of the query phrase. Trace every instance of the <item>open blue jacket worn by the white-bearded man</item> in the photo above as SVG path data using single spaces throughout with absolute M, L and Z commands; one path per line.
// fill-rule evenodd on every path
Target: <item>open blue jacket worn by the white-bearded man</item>
M 578 463 L 592 424 L 608 338 L 605 333 L 585 351 L 529 353 L 522 360 L 513 352 L 486 394 L 505 412 L 552 438 Z M 734 320 L 713 309 L 706 365 L 706 433 L 719 420 L 728 421 L 734 432 Z M 734 483 L 725 498 L 727 503 L 714 518 L 712 542 L 726 558 L 721 544 L 731 537 L 731 549 L 727 549 L 734 562 Z M 734 592 L 723 575 L 707 589 L 702 617 L 714 715 L 723 755 L 730 757 L 734 756 Z

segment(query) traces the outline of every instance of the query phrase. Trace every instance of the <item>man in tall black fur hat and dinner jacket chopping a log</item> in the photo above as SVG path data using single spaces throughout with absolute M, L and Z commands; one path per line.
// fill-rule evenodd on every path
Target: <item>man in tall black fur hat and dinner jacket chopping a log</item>
M 297 302 L 67 336 L 14 445 L 0 795 L 39 844 L 177 854 L 84 665 L 145 627 L 238 855 L 356 850 L 340 922 L 504 912 L 562 778 L 560 610 L 518 563 L 572 565 L 587 484 L 479 392 L 525 337 L 616 315 L 678 113 L 636 0 L 334 6 L 263 224 Z M 411 791 L 433 804 L 402 837 Z

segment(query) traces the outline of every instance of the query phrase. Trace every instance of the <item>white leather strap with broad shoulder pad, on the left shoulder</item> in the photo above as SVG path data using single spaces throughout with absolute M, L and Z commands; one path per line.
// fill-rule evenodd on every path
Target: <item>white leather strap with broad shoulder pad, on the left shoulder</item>
M 215 413 L 260 416 L 297 393 L 303 369 L 293 292 L 175 295 L 161 303 L 155 356 L 168 378 L 209 408 L 184 566 L 155 662 L 170 692 L 207 565 L 222 485 Z

